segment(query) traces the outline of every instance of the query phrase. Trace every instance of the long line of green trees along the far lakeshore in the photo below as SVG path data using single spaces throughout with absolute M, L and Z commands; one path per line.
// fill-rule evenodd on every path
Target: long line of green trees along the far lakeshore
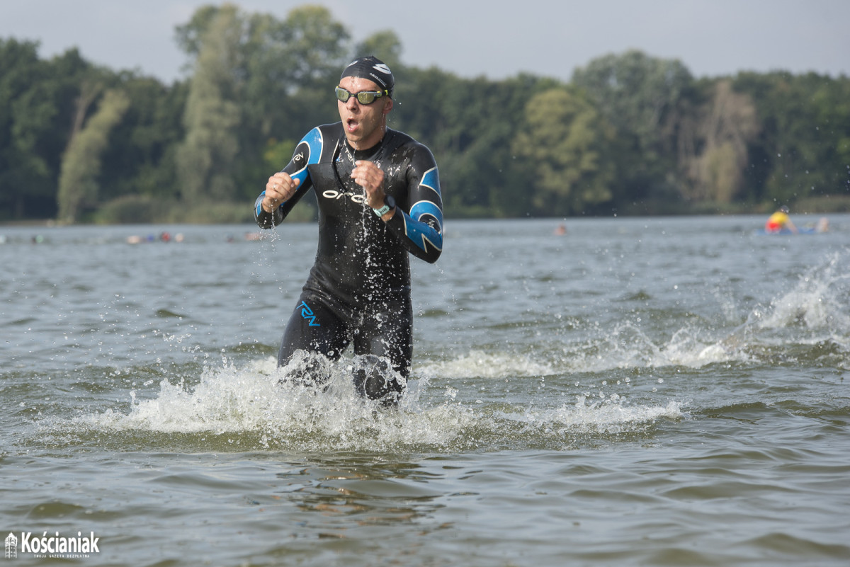
M 250 221 L 298 140 L 338 120 L 360 54 L 394 71 L 389 126 L 432 149 L 448 217 L 850 211 L 846 76 L 696 78 L 628 51 L 570 81 L 466 78 L 405 65 L 393 31 L 353 44 L 311 5 L 207 6 L 175 36 L 191 65 L 170 85 L 0 39 L 0 221 Z

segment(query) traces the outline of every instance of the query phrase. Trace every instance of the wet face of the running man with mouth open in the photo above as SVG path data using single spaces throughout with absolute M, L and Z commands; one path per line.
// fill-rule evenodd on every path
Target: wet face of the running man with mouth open
M 361 91 L 380 91 L 377 83 L 360 77 L 346 76 L 339 81 L 339 86 L 348 93 L 357 94 Z M 393 99 L 377 98 L 372 104 L 360 104 L 357 97 L 349 97 L 348 102 L 337 101 L 339 117 L 343 121 L 345 137 L 354 149 L 370 149 L 381 141 L 386 126 L 386 116 L 393 108 Z

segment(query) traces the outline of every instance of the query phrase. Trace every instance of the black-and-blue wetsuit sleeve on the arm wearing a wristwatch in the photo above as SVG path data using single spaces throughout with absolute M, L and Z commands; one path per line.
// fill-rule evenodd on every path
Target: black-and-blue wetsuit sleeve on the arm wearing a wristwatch
M 407 211 L 396 206 L 387 227 L 412 255 L 433 264 L 443 252 L 443 198 L 437 162 L 425 146 L 411 160 L 407 203 Z

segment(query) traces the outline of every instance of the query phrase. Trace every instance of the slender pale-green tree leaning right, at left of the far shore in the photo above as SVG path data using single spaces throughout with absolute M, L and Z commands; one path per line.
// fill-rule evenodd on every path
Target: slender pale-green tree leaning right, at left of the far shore
M 84 90 L 81 100 L 84 101 L 93 92 L 94 89 Z M 127 95 L 120 91 L 107 91 L 97 112 L 71 137 L 59 175 L 59 221 L 75 222 L 83 207 L 97 204 L 101 154 L 111 129 L 121 120 L 128 106 Z

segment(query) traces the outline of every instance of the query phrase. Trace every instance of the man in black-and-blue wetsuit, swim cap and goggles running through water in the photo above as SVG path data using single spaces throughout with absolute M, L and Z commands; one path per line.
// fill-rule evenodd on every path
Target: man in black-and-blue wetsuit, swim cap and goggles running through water
M 393 89 L 379 59 L 348 65 L 336 88 L 341 121 L 310 131 L 254 206 L 259 227 L 270 228 L 311 188 L 319 204 L 319 249 L 278 366 L 299 351 L 336 360 L 353 343 L 364 362 L 354 373 L 356 389 L 389 402 L 403 385 L 388 369 L 405 379 L 411 370 L 408 254 L 433 263 L 443 248 L 437 164 L 424 145 L 387 127 Z

